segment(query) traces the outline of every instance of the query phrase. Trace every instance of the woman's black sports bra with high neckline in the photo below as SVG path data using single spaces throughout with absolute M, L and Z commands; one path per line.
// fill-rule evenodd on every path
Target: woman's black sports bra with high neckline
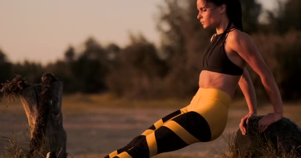
M 228 33 L 238 29 L 230 28 L 232 23 L 229 23 L 225 32 L 222 34 L 214 34 L 209 48 L 203 56 L 203 69 L 212 72 L 240 76 L 243 74 L 243 69 L 234 64 L 227 56 L 224 48 L 225 40 Z

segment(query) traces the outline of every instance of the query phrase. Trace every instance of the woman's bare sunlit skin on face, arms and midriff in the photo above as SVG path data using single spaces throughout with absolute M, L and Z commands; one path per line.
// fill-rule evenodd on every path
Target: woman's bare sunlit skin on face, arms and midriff
M 199 10 L 197 18 L 200 20 L 204 29 L 216 28 L 217 34 L 224 32 L 229 23 L 225 4 L 216 6 L 205 0 L 197 0 L 197 8 Z M 255 90 L 249 72 L 245 68 L 245 65 L 248 64 L 251 69 L 259 75 L 262 85 L 274 108 L 273 113 L 265 115 L 265 117 L 258 122 L 260 131 L 264 131 L 270 124 L 283 117 L 283 103 L 274 76 L 265 64 L 251 37 L 244 32 L 234 30 L 228 34 L 227 40 L 225 41 L 225 52 L 234 64 L 244 69 L 243 75 L 232 76 L 210 71 L 201 71 L 199 86 L 202 88 L 217 88 L 223 90 L 231 97 L 233 97 L 238 86 L 241 88 L 250 111 L 249 114 L 241 119 L 240 123 L 242 133 L 245 135 L 246 127 L 244 123 L 248 123 L 249 118 L 257 115 Z

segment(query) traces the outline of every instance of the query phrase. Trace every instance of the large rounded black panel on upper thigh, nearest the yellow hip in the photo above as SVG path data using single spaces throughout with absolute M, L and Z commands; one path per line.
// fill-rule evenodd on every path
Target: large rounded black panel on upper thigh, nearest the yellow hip
M 188 112 L 173 119 L 201 142 L 211 139 L 210 126 L 197 112 Z

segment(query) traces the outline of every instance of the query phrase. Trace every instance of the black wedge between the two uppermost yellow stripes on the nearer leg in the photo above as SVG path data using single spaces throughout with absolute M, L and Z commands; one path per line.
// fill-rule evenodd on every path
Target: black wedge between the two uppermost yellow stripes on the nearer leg
M 188 146 L 176 133 L 165 126 L 154 131 L 157 142 L 157 154 L 179 150 Z

